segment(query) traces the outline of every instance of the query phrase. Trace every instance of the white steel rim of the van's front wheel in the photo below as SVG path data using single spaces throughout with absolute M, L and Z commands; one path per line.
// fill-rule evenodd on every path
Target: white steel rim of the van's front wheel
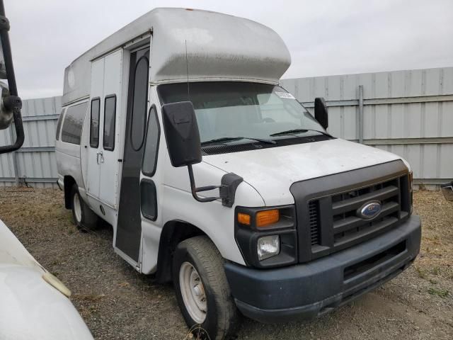
M 190 317 L 197 324 L 205 322 L 207 312 L 205 287 L 197 270 L 189 262 L 184 262 L 180 266 L 179 287 Z

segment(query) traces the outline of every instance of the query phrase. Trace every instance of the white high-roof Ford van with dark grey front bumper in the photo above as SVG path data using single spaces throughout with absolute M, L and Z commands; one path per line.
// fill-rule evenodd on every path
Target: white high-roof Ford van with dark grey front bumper
M 173 280 L 211 339 L 239 315 L 316 317 L 406 269 L 420 248 L 400 157 L 333 137 L 282 89 L 290 57 L 259 23 L 159 8 L 64 74 L 59 185 L 80 227 L 113 226 L 140 273 Z M 316 119 L 315 119 L 316 118 Z

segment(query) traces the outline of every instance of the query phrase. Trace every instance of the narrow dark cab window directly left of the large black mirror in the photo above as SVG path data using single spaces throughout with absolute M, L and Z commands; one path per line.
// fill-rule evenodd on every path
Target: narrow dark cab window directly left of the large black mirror
M 159 137 L 161 128 L 157 118 L 156 106 L 149 110 L 147 139 L 144 145 L 142 172 L 145 176 L 153 176 L 156 172 L 157 152 L 159 150 Z

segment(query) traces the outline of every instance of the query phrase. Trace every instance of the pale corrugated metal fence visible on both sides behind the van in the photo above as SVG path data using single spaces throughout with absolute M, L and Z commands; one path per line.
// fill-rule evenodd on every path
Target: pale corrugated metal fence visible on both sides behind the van
M 312 111 L 326 98 L 329 129 L 336 137 L 401 155 L 418 183 L 453 179 L 453 67 L 284 79 L 289 92 Z M 25 143 L 0 155 L 0 186 L 55 186 L 55 128 L 61 98 L 23 102 Z M 9 130 L 0 143 L 11 142 Z

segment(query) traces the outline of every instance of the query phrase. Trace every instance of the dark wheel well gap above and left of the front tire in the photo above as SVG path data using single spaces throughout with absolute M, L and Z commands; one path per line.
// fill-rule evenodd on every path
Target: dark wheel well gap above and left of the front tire
M 157 257 L 156 280 L 159 283 L 168 283 L 172 280 L 172 260 L 178 243 L 199 235 L 205 235 L 205 232 L 188 222 L 166 222 L 162 229 Z

